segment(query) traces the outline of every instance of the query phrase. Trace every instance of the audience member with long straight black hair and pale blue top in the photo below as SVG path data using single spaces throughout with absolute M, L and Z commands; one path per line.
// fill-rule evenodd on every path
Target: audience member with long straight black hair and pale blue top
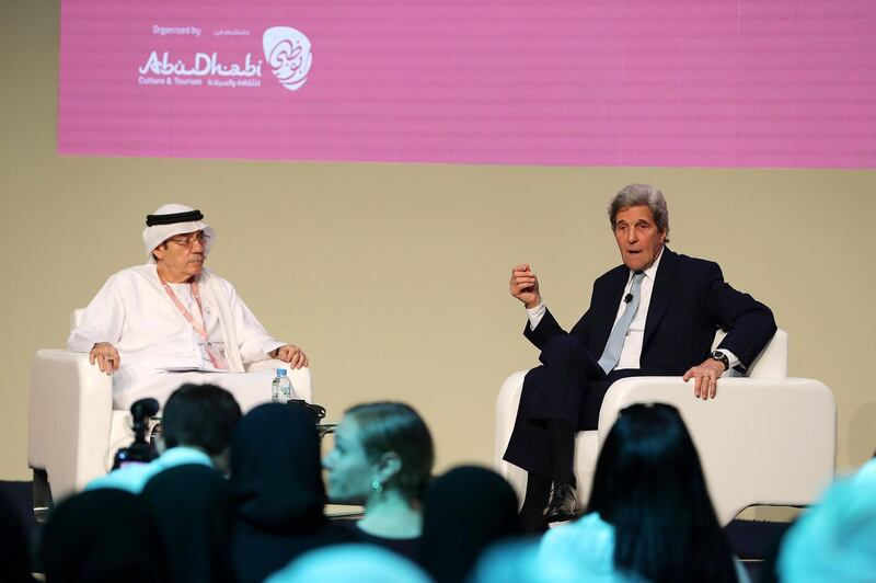
M 542 570 L 585 580 L 747 583 L 678 409 L 635 403 L 602 443 L 587 513 L 541 540 Z

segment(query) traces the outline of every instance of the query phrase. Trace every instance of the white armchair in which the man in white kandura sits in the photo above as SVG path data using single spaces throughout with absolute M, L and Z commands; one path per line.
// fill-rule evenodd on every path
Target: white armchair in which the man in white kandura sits
M 81 310 L 71 324 L 77 325 Z M 249 370 L 284 368 L 262 361 Z M 296 395 L 313 398 L 310 369 L 289 369 Z M 119 447 L 134 439 L 130 412 L 113 409 L 113 381 L 89 363 L 88 354 L 37 351 L 31 364 L 27 464 L 34 470 L 34 506 L 81 490 L 106 473 Z M 50 489 L 49 489 L 50 488 Z

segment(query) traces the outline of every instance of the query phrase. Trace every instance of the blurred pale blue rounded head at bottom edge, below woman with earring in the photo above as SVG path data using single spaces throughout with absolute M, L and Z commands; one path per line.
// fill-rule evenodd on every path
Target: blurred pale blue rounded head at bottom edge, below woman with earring
M 274 573 L 266 583 L 429 583 L 401 555 L 372 545 L 336 545 L 308 552 Z

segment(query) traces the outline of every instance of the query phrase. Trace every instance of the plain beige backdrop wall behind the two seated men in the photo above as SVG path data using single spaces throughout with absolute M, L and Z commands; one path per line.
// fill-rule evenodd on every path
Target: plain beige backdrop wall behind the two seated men
M 434 430 L 439 469 L 488 464 L 498 387 L 537 362 L 510 265 L 530 262 L 572 324 L 619 262 L 604 207 L 633 181 L 667 193 L 675 250 L 718 261 L 773 307 L 791 374 L 833 389 L 839 467 L 876 449 L 876 173 L 59 157 L 58 11 L 58 0 L 0 4 L 0 479 L 30 476 L 34 351 L 62 346 L 70 311 L 145 259 L 143 215 L 165 202 L 206 212 L 219 235 L 210 265 L 306 347 L 332 418 L 410 401 Z

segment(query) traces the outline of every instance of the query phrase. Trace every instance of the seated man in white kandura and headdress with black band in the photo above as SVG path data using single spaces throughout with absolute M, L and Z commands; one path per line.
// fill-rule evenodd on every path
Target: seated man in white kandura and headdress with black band
M 67 340 L 113 375 L 116 409 L 143 397 L 163 404 L 184 382 L 212 382 L 246 411 L 270 400 L 275 370 L 245 373 L 244 364 L 308 366 L 301 348 L 270 336 L 234 286 L 204 267 L 216 231 L 203 219 L 176 204 L 148 215 L 148 262 L 111 276 Z

